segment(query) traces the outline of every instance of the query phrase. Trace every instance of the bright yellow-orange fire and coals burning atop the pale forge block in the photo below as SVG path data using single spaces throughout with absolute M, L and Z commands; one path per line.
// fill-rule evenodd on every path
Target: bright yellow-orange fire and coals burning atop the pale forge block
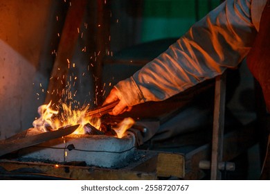
M 102 123 L 96 116 L 87 116 L 89 106 L 72 109 L 71 105 L 61 103 L 55 109 L 41 105 L 37 112 L 39 118 L 33 121 L 33 126 L 42 132 L 57 130 L 60 127 L 80 124 L 73 134 L 105 134 L 122 138 L 125 132 L 134 125 L 132 118 L 124 118 L 119 123 Z

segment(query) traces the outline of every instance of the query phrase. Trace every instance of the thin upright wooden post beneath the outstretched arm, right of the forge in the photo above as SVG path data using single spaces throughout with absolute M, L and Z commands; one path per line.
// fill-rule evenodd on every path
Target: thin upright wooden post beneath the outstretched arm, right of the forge
M 212 157 L 210 179 L 221 179 L 221 172 L 218 169 L 222 161 L 224 116 L 226 96 L 226 73 L 215 78 L 215 108 L 213 118 Z

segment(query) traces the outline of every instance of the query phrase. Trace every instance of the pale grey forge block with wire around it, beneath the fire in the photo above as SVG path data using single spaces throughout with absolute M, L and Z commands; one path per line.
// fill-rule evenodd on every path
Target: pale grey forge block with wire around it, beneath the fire
M 28 135 L 35 132 L 29 130 Z M 135 150 L 134 134 L 127 132 L 122 139 L 114 136 L 70 134 L 19 151 L 22 159 L 55 162 L 85 161 L 89 166 L 114 168 L 124 164 Z

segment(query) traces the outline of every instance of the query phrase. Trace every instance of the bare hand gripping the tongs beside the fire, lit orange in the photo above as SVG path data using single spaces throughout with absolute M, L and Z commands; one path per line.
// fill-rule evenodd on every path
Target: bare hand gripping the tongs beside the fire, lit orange
M 111 89 L 111 92 L 109 96 L 106 98 L 106 100 L 104 101 L 103 105 L 112 103 L 116 100 L 120 100 L 120 101 L 109 114 L 118 115 L 118 114 L 123 114 L 126 111 L 127 112 L 131 111 L 132 107 L 127 106 L 127 103 L 122 98 L 120 92 L 116 88 Z

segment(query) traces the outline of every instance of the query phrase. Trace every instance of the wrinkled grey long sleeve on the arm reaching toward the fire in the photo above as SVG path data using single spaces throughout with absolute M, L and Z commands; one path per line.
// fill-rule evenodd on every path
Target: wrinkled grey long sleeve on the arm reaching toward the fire
M 214 78 L 226 68 L 237 67 L 257 33 L 250 10 L 250 0 L 225 1 L 167 51 L 131 78 L 118 82 L 109 95 L 109 98 L 120 98 L 121 104 L 116 106 L 118 112 L 138 103 L 165 100 Z

